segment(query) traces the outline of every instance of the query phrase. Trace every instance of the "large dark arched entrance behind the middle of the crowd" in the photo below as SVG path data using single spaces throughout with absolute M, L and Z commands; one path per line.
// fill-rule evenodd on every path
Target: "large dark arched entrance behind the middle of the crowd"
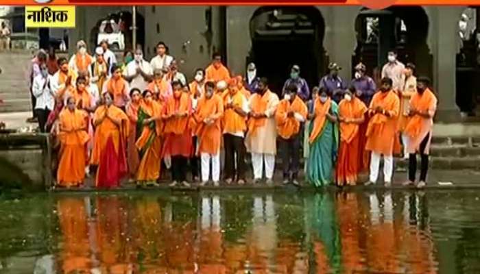
M 316 86 L 325 71 L 324 31 L 324 19 L 315 7 L 259 8 L 250 20 L 247 64 L 254 62 L 257 74 L 268 77 L 278 94 L 293 64 L 300 66 L 309 86 Z

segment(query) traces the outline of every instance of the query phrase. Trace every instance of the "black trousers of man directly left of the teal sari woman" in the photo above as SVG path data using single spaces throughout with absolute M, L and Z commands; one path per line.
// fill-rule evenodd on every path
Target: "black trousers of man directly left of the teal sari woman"
M 300 134 L 289 139 L 279 138 L 278 146 L 283 165 L 283 179 L 297 179 L 300 166 Z

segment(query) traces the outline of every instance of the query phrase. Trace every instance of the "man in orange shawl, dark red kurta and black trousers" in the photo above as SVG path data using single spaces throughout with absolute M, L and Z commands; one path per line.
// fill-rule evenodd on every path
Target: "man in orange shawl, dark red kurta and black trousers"
M 192 134 L 189 128 L 191 116 L 191 97 L 183 91 L 182 83 L 171 83 L 173 97 L 169 97 L 163 108 L 163 120 L 165 121 L 165 143 L 162 157 L 171 158 L 171 177 L 173 182 L 170 186 L 182 183 L 189 187 L 187 182 L 187 162 L 193 153 Z

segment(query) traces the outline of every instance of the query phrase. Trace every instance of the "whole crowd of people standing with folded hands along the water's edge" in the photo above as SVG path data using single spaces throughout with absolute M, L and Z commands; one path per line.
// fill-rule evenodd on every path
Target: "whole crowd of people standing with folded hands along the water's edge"
M 170 186 L 242 185 L 248 156 L 252 184 L 263 182 L 264 172 L 273 184 L 277 153 L 283 184 L 300 186 L 302 158 L 305 184 L 356 185 L 368 171 L 364 184 L 376 184 L 383 158 L 390 186 L 394 155 L 402 153 L 409 159 L 405 185 L 426 184 L 437 99 L 430 80 L 413 76 L 415 66 L 398 61 L 395 51 L 378 89 L 364 64 L 346 82 L 331 63 L 312 89 L 293 65 L 283 90 L 274 91 L 254 63 L 245 77 L 231 75 L 214 53 L 189 83 L 164 42 L 156 53 L 148 62 L 137 47 L 117 62 L 108 42 L 90 55 L 81 40 L 70 60 L 53 50 L 32 60 L 34 119 L 59 142 L 57 186 L 82 186 L 91 171 L 99 188 L 123 178 L 158 186 L 166 170 Z

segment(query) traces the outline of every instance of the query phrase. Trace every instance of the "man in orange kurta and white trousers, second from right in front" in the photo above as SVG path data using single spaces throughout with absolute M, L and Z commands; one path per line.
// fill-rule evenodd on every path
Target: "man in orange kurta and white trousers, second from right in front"
M 367 144 L 365 149 L 372 151 L 370 160 L 370 181 L 376 184 L 379 178 L 380 158 L 383 155 L 383 175 L 385 186 L 392 184 L 394 169 L 394 145 L 397 138 L 397 119 L 400 111 L 400 101 L 392 90 L 392 79 L 381 80 L 380 92 L 376 92 L 370 103 L 369 113 L 371 119 L 366 132 Z

